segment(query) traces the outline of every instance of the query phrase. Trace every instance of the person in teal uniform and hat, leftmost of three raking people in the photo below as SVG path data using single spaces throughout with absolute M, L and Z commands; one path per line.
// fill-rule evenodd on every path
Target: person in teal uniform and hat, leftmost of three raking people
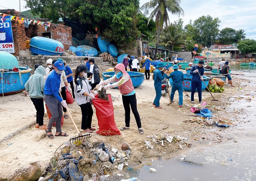
M 153 102 L 153 105 L 155 105 L 155 108 L 162 109 L 162 107 L 160 107 L 160 98 L 162 94 L 161 86 L 162 86 L 162 80 L 166 77 L 166 73 L 167 73 L 167 70 L 163 69 L 163 63 L 162 62 L 158 63 L 153 75 L 154 87 L 156 90 L 156 98 Z

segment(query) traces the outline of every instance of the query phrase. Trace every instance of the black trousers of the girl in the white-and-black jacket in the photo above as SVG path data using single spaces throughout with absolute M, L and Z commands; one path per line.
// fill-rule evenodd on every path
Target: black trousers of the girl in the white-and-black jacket
M 82 111 L 82 125 L 81 129 L 91 128 L 91 121 L 93 118 L 93 108 L 91 104 L 82 104 L 79 105 Z

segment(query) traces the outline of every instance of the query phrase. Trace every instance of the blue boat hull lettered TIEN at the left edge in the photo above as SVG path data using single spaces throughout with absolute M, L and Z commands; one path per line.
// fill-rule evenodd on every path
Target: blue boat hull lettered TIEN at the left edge
M 20 81 L 19 72 L 4 72 L 3 78 L 0 75 L 0 96 L 2 96 L 3 94 L 17 94 L 25 89 L 25 83 L 30 77 L 31 68 L 26 70 L 26 67 L 19 67 L 19 69 L 23 85 Z

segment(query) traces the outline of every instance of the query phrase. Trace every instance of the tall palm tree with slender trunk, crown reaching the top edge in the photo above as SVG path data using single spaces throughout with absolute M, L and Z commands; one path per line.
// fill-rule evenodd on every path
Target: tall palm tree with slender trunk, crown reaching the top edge
M 170 24 L 168 12 L 178 16 L 184 14 L 183 9 L 180 7 L 180 2 L 181 0 L 150 0 L 150 2 L 147 2 L 141 6 L 141 9 L 145 12 L 145 15 L 148 15 L 149 11 L 152 10 L 148 23 L 152 18 L 155 18 L 156 21 L 156 28 L 158 30 L 158 36 L 156 39 L 156 54 L 158 52 L 159 38 L 160 33 L 163 30 L 163 26 L 167 27 L 168 23 Z

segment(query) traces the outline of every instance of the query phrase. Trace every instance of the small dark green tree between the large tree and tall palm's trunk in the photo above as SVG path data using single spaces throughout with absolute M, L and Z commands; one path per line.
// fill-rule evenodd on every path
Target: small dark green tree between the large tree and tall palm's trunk
M 139 13 L 139 20 L 137 22 L 138 30 L 149 37 L 152 40 L 152 34 L 156 32 L 156 23 L 154 20 L 150 20 L 148 23 L 149 18 L 147 18 L 144 14 Z

